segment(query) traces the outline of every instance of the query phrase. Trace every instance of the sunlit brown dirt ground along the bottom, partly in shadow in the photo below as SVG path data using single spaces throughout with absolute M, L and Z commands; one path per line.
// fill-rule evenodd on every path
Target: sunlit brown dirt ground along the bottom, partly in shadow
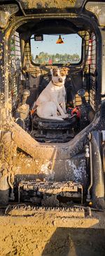
M 1 256 L 104 256 L 105 230 L 1 226 Z

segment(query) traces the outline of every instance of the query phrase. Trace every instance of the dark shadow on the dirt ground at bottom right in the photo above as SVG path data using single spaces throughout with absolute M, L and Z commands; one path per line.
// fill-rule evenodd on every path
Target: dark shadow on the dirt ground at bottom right
M 105 256 L 105 230 L 57 228 L 42 256 Z

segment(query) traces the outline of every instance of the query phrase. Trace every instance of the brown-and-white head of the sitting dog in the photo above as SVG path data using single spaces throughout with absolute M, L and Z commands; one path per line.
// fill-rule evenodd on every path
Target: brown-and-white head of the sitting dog
M 64 68 L 53 68 L 50 70 L 50 73 L 52 75 L 52 82 L 53 84 L 57 86 L 64 85 L 65 79 L 66 79 L 66 69 Z

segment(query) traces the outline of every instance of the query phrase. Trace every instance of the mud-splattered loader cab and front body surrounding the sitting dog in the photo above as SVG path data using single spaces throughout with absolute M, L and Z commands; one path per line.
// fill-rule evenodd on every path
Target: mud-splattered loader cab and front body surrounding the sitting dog
M 66 205 L 66 195 L 81 204 L 97 197 L 104 200 L 104 179 L 95 174 L 104 168 L 104 10 L 103 1 L 66 0 L 62 7 L 61 1 L 0 1 L 1 169 L 6 172 L 0 188 L 6 181 L 3 191 L 7 191 L 0 189 L 1 203 L 20 203 L 24 198 L 47 205 L 48 192 L 43 196 L 42 191 L 49 186 L 58 186 L 55 205 Z M 53 68 L 67 70 L 64 86 L 70 118 L 62 122 L 36 113 L 36 99 L 50 82 Z M 99 141 L 102 165 L 91 155 L 94 139 Z M 92 184 L 90 169 L 95 164 Z M 59 191 L 68 181 L 69 193 Z M 102 189 L 97 196 L 98 181 Z M 38 198 L 37 187 L 42 189 Z

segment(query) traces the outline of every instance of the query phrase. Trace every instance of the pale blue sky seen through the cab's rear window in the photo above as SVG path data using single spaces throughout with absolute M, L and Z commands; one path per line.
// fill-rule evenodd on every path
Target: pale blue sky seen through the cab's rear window
M 32 36 L 34 37 L 34 36 Z M 78 34 L 61 35 L 64 44 L 56 44 L 59 35 L 43 35 L 43 41 L 34 41 L 31 39 L 31 54 L 38 55 L 41 51 L 48 54 L 70 54 L 77 53 L 81 56 L 82 39 Z

